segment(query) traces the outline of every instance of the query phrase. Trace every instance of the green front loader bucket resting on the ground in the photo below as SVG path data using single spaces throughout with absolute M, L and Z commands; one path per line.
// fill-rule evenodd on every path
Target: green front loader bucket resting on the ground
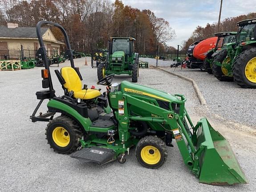
M 199 157 L 199 182 L 212 185 L 245 184 L 247 179 L 228 141 L 201 119 L 196 138 Z M 201 149 L 201 150 L 200 150 Z

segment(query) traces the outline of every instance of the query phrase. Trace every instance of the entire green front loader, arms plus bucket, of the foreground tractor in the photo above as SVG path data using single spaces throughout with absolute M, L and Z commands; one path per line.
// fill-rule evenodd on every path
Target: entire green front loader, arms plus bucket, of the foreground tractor
M 157 99 L 153 102 L 154 98 L 152 97 L 158 98 L 158 96 L 142 92 L 143 88 L 141 87 L 141 92 L 114 93 L 115 102 L 118 100 L 118 103 L 121 101 L 123 104 L 122 114 L 119 110 L 115 111 L 115 116 L 119 122 L 120 140 L 129 141 L 130 121 L 158 124 L 158 129 L 162 128 L 163 131 L 172 133 L 184 163 L 195 176 L 199 177 L 199 182 L 213 185 L 247 183 L 228 141 L 211 127 L 206 118 L 202 118 L 195 126 L 192 124 L 184 107 L 186 101 L 184 96 L 170 96 L 171 99 L 176 99 L 169 100 L 169 108 L 167 109 L 156 105 Z M 167 100 L 167 95 L 165 96 L 162 98 L 163 100 Z M 113 96 L 110 95 L 110 97 Z M 179 113 L 171 108 L 173 102 L 180 105 Z M 136 115 L 131 112 L 131 108 L 134 106 L 138 109 Z M 154 116 L 138 115 L 140 114 L 139 111 L 142 110 L 146 111 L 147 114 L 154 114 Z

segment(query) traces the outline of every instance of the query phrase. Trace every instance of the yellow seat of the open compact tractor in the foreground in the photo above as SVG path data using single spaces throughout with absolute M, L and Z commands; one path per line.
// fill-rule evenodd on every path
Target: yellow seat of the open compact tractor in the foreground
M 73 96 L 76 99 L 90 100 L 101 95 L 101 92 L 97 89 L 82 89 L 82 82 L 77 72 L 72 67 L 61 68 L 61 76 L 65 80 L 65 84 L 63 84 L 64 88 L 66 88 L 68 92 L 73 91 Z

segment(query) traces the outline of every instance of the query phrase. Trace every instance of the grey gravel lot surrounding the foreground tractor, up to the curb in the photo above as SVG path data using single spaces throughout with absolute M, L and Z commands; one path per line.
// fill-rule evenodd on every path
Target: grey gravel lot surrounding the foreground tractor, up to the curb
M 88 59 L 87 59 L 88 61 Z M 84 66 L 85 59 L 76 59 L 80 67 L 83 83 L 89 86 L 97 81 L 96 68 Z M 66 65 L 61 64 L 62 66 Z M 88 63 L 89 64 L 89 63 Z M 51 68 L 53 71 L 54 67 Z M 53 74 L 56 95 L 63 91 Z M 128 76 L 116 76 L 114 82 L 131 80 Z M 183 93 L 187 97 L 186 107 L 192 120 L 199 116 L 195 109 L 200 108 L 195 92 L 187 81 L 170 76 L 156 69 L 141 69 L 138 84 L 148 85 L 169 93 Z M 104 88 L 104 86 L 97 86 Z M 15 72 L 0 72 L 2 90 L 0 136 L 0 191 L 1 192 L 255 192 L 256 191 L 256 144 L 255 136 L 229 129 L 210 119 L 214 128 L 219 130 L 231 143 L 249 184 L 235 186 L 211 186 L 200 184 L 183 163 L 179 149 L 168 148 L 166 163 L 159 169 L 143 168 L 135 158 L 135 150 L 130 151 L 126 164 L 117 161 L 99 167 L 85 164 L 53 152 L 45 140 L 47 123 L 32 123 L 32 114 L 38 100 L 35 93 L 41 90 L 41 68 Z M 46 102 L 45 102 L 46 105 Z M 42 108 L 42 112 L 45 106 Z M 250 154 L 250 156 L 248 156 Z

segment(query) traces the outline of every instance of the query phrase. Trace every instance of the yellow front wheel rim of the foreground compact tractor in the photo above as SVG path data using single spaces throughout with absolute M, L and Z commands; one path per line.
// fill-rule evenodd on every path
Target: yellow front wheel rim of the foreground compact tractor
M 161 159 L 161 154 L 158 148 L 151 145 L 142 148 L 140 156 L 146 164 L 157 164 Z

